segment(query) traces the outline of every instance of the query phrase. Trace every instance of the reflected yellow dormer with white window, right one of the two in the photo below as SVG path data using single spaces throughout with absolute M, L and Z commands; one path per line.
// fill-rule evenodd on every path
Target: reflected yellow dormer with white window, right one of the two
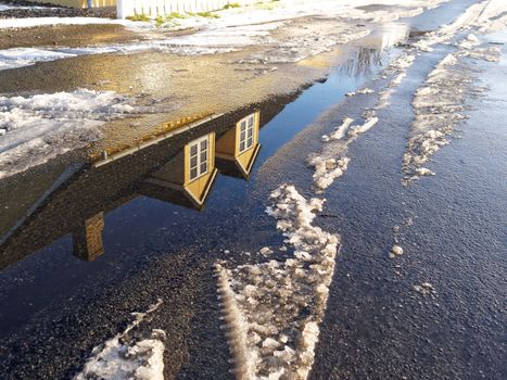
M 257 157 L 258 112 L 239 121 L 216 143 L 217 166 L 225 175 L 248 178 Z

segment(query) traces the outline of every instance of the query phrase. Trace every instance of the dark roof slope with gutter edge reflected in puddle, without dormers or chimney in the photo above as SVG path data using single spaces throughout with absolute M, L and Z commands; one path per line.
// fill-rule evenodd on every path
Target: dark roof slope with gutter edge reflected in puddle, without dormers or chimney
M 142 180 L 162 163 L 172 160 L 187 140 L 194 139 L 197 134 L 223 134 L 239 118 L 258 109 L 263 110 L 259 123 L 262 128 L 300 93 L 301 91 L 296 91 L 270 97 L 261 103 L 245 105 L 221 115 L 204 116 L 193 123 L 182 124 L 186 119 L 167 123 L 166 127 L 173 128 L 172 130 L 163 130 L 161 127 L 160 132 L 145 140 L 147 144 L 136 147 L 128 153 L 110 151 L 109 160 L 101 160 L 103 163 L 100 167 L 94 167 L 92 162 L 81 162 L 81 166 L 68 177 L 62 176 L 54 181 L 31 205 L 28 215 L 24 213 L 25 217 L 20 215 L 13 220 L 13 228 L 0 243 L 0 270 L 73 232 L 83 220 L 97 213 L 107 214 L 138 197 Z M 144 148 L 145 151 L 141 151 Z M 117 154 L 123 159 L 118 160 Z

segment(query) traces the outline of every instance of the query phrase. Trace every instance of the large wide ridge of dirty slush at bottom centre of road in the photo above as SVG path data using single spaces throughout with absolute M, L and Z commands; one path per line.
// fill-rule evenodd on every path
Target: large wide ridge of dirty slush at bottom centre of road
M 267 213 L 294 252 L 284 261 L 216 266 L 238 379 L 306 379 L 334 271 L 339 237 L 313 225 L 324 201 L 293 186 L 270 195 Z

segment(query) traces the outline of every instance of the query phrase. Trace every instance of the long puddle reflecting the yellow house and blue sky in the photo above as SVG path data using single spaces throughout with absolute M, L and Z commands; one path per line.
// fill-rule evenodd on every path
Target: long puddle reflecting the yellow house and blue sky
M 218 240 L 211 230 L 221 230 L 227 237 L 231 215 L 252 220 L 264 215 L 265 205 L 253 201 L 250 191 L 256 168 L 324 110 L 360 87 L 390 54 L 370 47 L 352 48 L 347 61 L 325 83 L 302 93 L 198 123 L 134 154 L 80 168 L 71 178 L 64 172 L 28 212 L 2 217 L 0 264 L 7 269 L 0 282 L 26 271 L 34 276 L 28 282 L 4 288 L 0 309 L 9 313 L 1 313 L 3 332 L 63 296 L 63 289 L 83 281 L 107 281 L 97 277 L 111 266 L 122 276 L 119 268 L 132 267 L 152 254 L 153 236 L 165 236 L 164 251 L 172 252 L 195 239 Z M 253 130 L 242 130 L 249 123 Z M 252 147 L 245 149 L 250 134 Z M 201 172 L 207 174 L 201 176 Z M 9 207 L 16 198 L 4 202 Z M 125 252 L 132 251 L 126 258 Z M 58 279 L 56 271 L 62 274 Z M 114 276 L 109 274 L 110 279 Z

